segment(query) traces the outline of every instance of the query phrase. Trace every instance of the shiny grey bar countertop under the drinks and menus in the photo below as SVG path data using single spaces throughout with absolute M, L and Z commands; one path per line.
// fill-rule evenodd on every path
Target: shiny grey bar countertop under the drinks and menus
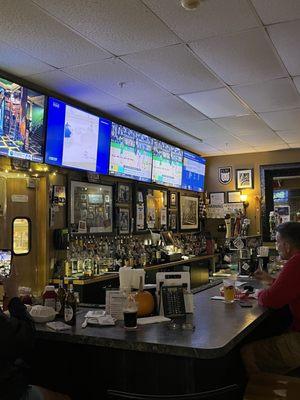
M 113 327 L 81 328 L 88 309 L 80 309 L 76 327 L 72 330 L 55 332 L 44 324 L 37 324 L 37 336 L 52 341 L 182 357 L 223 357 L 269 312 L 256 300 L 251 300 L 252 308 L 242 308 L 238 302 L 225 304 L 220 300 L 211 300 L 212 296 L 219 294 L 219 288 L 220 285 L 194 294 L 194 331 L 170 329 L 168 322 L 139 325 L 136 331 L 126 331 L 122 322 Z

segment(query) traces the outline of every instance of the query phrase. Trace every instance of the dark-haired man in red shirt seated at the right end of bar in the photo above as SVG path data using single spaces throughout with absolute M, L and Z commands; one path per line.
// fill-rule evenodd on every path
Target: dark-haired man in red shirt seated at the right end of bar
M 287 261 L 276 279 L 264 271 L 255 272 L 257 279 L 269 284 L 259 292 L 258 302 L 272 309 L 288 305 L 293 322 L 288 332 L 242 348 L 248 375 L 259 372 L 286 374 L 300 367 L 300 223 L 279 225 L 276 243 L 281 259 Z

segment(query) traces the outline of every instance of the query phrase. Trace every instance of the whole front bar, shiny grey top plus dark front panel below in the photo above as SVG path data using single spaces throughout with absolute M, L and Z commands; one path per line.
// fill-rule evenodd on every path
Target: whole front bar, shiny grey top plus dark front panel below
M 242 382 L 240 346 L 270 312 L 256 300 L 252 308 L 211 300 L 218 294 L 216 286 L 194 295 L 194 331 L 174 330 L 167 322 L 130 332 L 121 322 L 82 328 L 86 309 L 69 331 L 37 325 L 33 379 L 74 399 L 102 399 L 107 389 L 180 394 Z

